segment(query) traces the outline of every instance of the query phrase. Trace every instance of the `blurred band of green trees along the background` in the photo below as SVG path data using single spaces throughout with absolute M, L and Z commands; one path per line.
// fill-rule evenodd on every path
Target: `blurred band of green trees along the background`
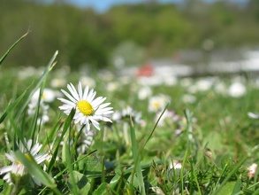
M 98 13 L 62 1 L 2 0 L 0 55 L 27 30 L 29 35 L 4 62 L 9 66 L 44 66 L 57 50 L 59 63 L 77 69 L 112 66 L 119 55 L 129 55 L 133 63 L 173 58 L 180 50 L 202 49 L 206 40 L 214 49 L 257 46 L 259 1 L 232 2 L 143 1 Z

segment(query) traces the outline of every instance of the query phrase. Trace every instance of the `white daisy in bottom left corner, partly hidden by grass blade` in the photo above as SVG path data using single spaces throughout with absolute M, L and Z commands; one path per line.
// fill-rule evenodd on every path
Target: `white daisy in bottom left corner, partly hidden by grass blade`
M 30 153 L 36 163 L 41 164 L 44 160 L 47 160 L 49 158 L 49 154 L 45 152 L 38 153 L 42 148 L 42 144 L 37 143 L 32 146 L 32 143 L 32 139 L 29 139 L 28 141 L 25 140 L 24 144 L 22 142 L 19 142 L 19 151 L 24 153 L 27 158 L 30 158 L 30 156 L 28 155 L 28 153 Z M 6 174 L 4 175 L 4 180 L 11 185 L 19 184 L 19 181 L 21 181 L 20 179 L 23 176 L 27 175 L 27 168 L 18 160 L 15 152 L 11 151 L 10 153 L 5 153 L 5 156 L 12 163 L 10 166 L 0 168 L 0 175 Z M 41 185 L 41 183 L 34 178 L 34 175 L 31 176 L 34 183 Z M 34 186 L 34 183 L 31 183 L 31 185 Z

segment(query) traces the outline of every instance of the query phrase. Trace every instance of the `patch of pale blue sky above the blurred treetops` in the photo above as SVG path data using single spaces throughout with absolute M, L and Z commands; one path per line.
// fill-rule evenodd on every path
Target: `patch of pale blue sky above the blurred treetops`
M 141 2 L 147 2 L 148 0 L 66 0 L 71 4 L 75 4 L 80 7 L 93 7 L 96 12 L 106 12 L 111 6 L 115 4 L 137 4 Z M 205 0 L 207 2 L 213 2 L 216 0 Z M 232 2 L 245 3 L 248 0 L 232 0 Z M 158 0 L 159 3 L 180 3 L 182 0 Z

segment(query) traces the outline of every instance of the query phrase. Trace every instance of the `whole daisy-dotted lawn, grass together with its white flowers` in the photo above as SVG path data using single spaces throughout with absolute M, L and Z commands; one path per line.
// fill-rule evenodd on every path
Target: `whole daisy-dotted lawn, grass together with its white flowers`
M 143 82 L 56 57 L 0 60 L 2 194 L 259 194 L 258 79 Z

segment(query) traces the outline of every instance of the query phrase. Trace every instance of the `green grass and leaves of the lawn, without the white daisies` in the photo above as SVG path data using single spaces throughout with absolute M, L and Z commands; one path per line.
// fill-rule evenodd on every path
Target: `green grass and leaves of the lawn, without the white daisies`
M 193 93 L 194 103 L 184 102 L 182 96 L 190 94 L 189 86 L 199 79 L 191 79 L 188 86 L 181 85 L 182 80 L 173 86 L 151 86 L 153 95 L 149 98 L 158 94 L 171 98 L 155 120 L 156 113 L 148 109 L 149 98 L 138 98 L 139 82 L 124 83 L 116 74 L 106 81 L 103 75 L 86 73 L 95 81 L 97 97 L 107 97 L 105 102 L 110 102 L 114 111 L 130 105 L 141 113 L 142 121 L 126 115 L 121 121 L 101 122 L 94 143 L 82 153 L 77 149 L 85 139 L 83 129 L 78 131 L 73 124 L 74 111 L 67 116 L 58 109 L 60 94 L 46 102 L 50 106 L 48 122 L 38 122 L 42 116 L 39 100 L 35 113 L 27 113 L 38 88 L 42 89 L 40 94 L 44 89 L 65 90 L 65 86 L 51 86 L 51 81 L 64 77 L 65 85 L 77 84 L 82 74 L 60 75 L 63 66 L 57 62 L 54 67 L 55 53 L 41 75 L 22 78 L 22 70 L 4 68 L 4 60 L 8 60 L 4 58 L 0 73 L 0 168 L 10 165 L 4 153 L 13 150 L 27 168 L 27 175 L 34 175 L 42 185 L 32 187 L 24 177 L 10 186 L 0 175 L 2 194 L 259 194 L 258 168 L 248 177 L 248 167 L 259 161 L 259 121 L 248 117 L 248 112 L 259 112 L 259 88 L 253 78 L 243 82 L 247 93 L 240 98 L 210 87 Z M 217 79 L 226 88 L 232 82 L 231 76 Z M 109 82 L 118 83 L 118 90 L 107 90 Z M 174 115 L 164 120 L 165 110 Z M 32 156 L 18 150 L 15 143 L 24 137 L 34 143 L 38 140 L 41 152 L 50 152 L 44 168 L 44 163 L 38 165 Z M 182 168 L 171 168 L 173 161 Z

